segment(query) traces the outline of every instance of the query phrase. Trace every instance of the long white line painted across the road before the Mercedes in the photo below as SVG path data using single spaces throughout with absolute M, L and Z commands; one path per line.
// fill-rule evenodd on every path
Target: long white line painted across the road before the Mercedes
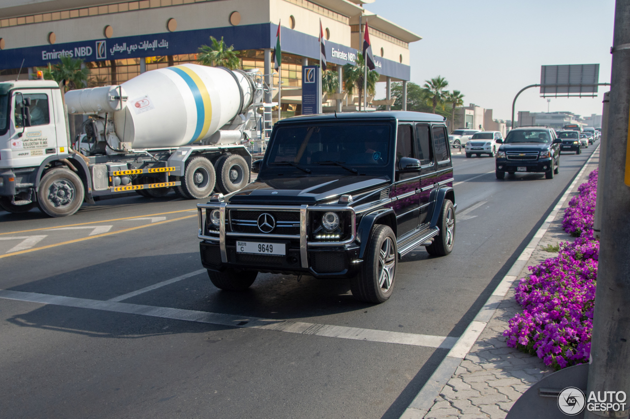
M 297 333 L 300 335 L 316 335 L 342 339 L 384 342 L 387 344 L 423 346 L 451 349 L 456 337 L 420 335 L 416 333 L 388 332 L 357 327 L 319 325 L 302 321 L 273 320 L 250 316 L 235 316 L 206 311 L 183 310 L 180 308 L 144 306 L 140 304 L 100 301 L 96 299 L 74 298 L 50 294 L 24 293 L 0 289 L 0 298 L 27 301 L 30 303 L 54 304 L 57 306 L 89 308 L 92 310 L 112 311 L 141 316 L 169 318 L 173 320 L 195 321 L 230 327 L 249 327 L 278 332 Z

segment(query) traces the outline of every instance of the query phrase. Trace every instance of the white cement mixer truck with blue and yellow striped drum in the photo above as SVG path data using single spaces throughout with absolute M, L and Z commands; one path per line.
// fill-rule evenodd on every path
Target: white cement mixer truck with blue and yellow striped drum
M 264 138 L 263 89 L 255 70 L 195 64 L 65 97 L 41 74 L 0 83 L 0 206 L 57 217 L 130 191 L 237 191 L 249 182 L 249 143 Z M 84 115 L 74 138 L 68 114 Z

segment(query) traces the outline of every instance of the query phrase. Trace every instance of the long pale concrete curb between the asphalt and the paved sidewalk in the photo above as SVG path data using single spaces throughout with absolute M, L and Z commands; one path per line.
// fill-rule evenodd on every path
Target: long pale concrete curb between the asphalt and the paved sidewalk
M 599 150 L 599 145 L 597 145 L 590 157 L 588 157 L 586 162 L 584 162 L 582 168 L 576 174 L 573 181 L 566 189 L 563 196 L 559 199 L 556 206 L 554 206 L 549 216 L 547 216 L 546 220 L 542 223 L 536 234 L 534 234 L 532 240 L 530 240 L 529 244 L 518 256 L 518 259 L 514 262 L 498 286 L 496 286 L 490 298 L 488 298 L 486 303 L 483 304 L 461 337 L 459 337 L 457 342 L 455 342 L 455 345 L 449 351 L 449 354 L 447 354 L 442 362 L 440 362 L 440 365 L 435 369 L 431 377 L 429 377 L 427 383 L 425 383 L 413 401 L 411 401 L 408 408 L 406 408 L 403 412 L 403 415 L 400 416 L 400 419 L 422 419 L 425 415 L 427 415 L 428 411 L 435 403 L 437 396 L 442 392 L 453 374 L 455 374 L 457 367 L 459 367 L 464 358 L 466 358 L 466 355 L 472 349 L 476 340 L 479 338 L 479 335 L 481 335 L 481 332 L 483 332 L 484 328 L 488 325 L 488 322 L 495 314 L 499 304 L 506 298 L 505 296 L 508 294 L 513 282 L 516 281 L 520 272 L 524 269 L 525 265 L 527 265 L 532 252 L 534 252 L 534 249 L 536 249 L 536 246 L 541 241 L 541 238 L 547 232 L 549 225 L 551 225 L 551 223 L 556 219 L 556 216 L 558 216 L 558 213 L 563 207 L 563 204 L 568 196 L 573 193 L 573 190 L 587 169 L 588 163 L 593 159 L 597 150 Z

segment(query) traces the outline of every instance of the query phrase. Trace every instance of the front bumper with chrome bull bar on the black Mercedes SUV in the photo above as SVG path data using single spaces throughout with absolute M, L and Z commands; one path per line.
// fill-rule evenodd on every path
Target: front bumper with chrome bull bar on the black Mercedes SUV
M 205 235 L 203 210 L 219 210 L 221 223 L 219 232 Z M 300 234 L 282 235 L 265 233 L 238 233 L 227 231 L 226 215 L 229 210 L 248 211 L 299 211 Z M 311 242 L 307 236 L 309 211 L 322 211 L 321 206 L 272 206 L 234 205 L 226 203 L 197 204 L 202 265 L 212 271 L 222 271 L 226 267 L 259 272 L 309 274 L 314 277 L 348 278 L 357 274 L 360 246 L 355 242 L 356 215 L 352 207 L 338 206 L 334 211 L 350 211 L 350 237 L 341 242 Z M 229 225 L 229 223 L 228 223 Z M 284 243 L 285 255 L 249 254 L 236 251 L 236 242 L 255 241 L 264 243 Z

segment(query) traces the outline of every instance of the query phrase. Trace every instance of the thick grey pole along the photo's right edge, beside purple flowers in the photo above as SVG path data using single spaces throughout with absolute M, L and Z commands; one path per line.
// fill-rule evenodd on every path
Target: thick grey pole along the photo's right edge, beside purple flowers
M 607 144 L 602 156 L 605 182 L 597 190 L 602 198 L 602 232 L 587 398 L 591 391 L 630 395 L 630 187 L 624 184 L 630 135 L 630 0 L 616 1 L 613 45 Z M 629 411 L 585 411 L 584 417 L 627 418 Z

